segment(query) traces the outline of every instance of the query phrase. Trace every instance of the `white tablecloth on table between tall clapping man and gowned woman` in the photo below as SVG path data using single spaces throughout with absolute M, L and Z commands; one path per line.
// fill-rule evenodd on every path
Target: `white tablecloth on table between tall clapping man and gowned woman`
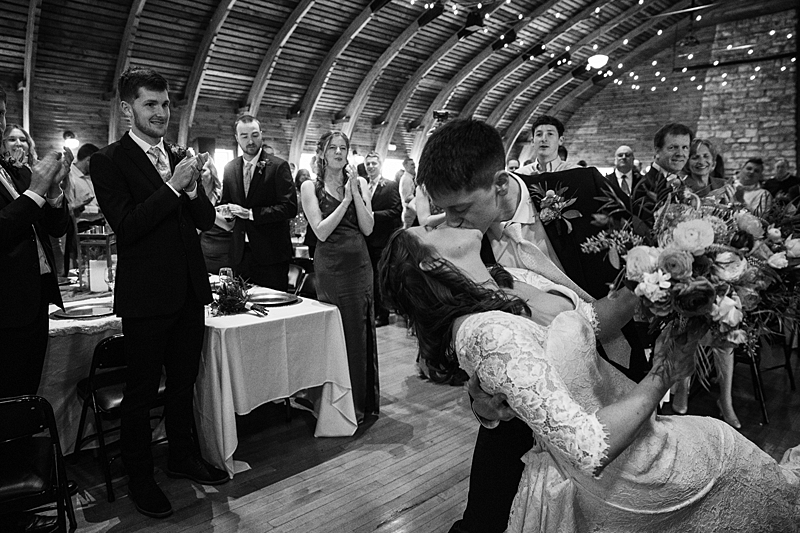
M 195 416 L 203 456 L 233 476 L 236 414 L 322 387 L 316 437 L 357 428 L 339 310 L 311 299 L 252 314 L 206 319 Z

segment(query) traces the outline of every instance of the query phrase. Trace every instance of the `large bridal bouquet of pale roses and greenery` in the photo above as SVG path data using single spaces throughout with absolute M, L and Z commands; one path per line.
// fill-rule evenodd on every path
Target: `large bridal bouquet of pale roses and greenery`
M 800 291 L 787 283 L 792 264 L 800 263 L 794 233 L 686 189 L 657 204 L 646 225 L 634 216 L 595 219 L 609 227 L 582 249 L 606 251 L 618 268 L 624 263 L 617 284 L 640 297 L 651 331 L 675 323 L 707 330 L 708 347 L 751 347 L 776 324 L 796 323 Z

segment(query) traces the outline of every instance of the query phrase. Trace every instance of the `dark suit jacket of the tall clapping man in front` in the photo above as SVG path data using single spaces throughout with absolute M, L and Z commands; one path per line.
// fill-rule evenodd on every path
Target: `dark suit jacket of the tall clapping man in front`
M 174 171 L 177 156 L 164 146 Z M 211 303 L 197 230 L 210 229 L 216 214 L 203 187 L 194 200 L 176 195 L 128 133 L 92 156 L 91 174 L 100 209 L 117 235 L 117 315 L 175 313 L 189 286 L 200 303 Z

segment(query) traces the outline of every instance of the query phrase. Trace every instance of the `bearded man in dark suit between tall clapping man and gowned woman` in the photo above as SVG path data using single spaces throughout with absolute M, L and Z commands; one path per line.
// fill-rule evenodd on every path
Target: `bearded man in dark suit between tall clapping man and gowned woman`
M 242 115 L 234 129 L 243 155 L 225 165 L 221 200 L 236 217 L 233 270 L 256 285 L 286 291 L 293 255 L 289 220 L 297 216 L 292 171 L 289 163 L 262 147 L 255 117 Z

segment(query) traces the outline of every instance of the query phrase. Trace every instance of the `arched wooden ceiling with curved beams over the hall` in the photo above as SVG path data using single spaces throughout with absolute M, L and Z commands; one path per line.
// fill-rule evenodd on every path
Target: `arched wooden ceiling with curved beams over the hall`
M 471 0 L 6 0 L 0 84 L 21 91 L 17 114 L 44 146 L 67 129 L 98 144 L 117 138 L 115 80 L 137 65 L 169 79 L 169 136 L 181 143 L 230 142 L 235 116 L 251 112 L 293 162 L 329 129 L 362 150 L 395 144 L 395 156 L 418 156 L 433 113 L 446 111 L 487 120 L 510 149 L 534 114 L 574 111 L 580 95 L 611 81 L 585 69 L 595 47 L 610 66 L 636 68 L 654 43 L 688 31 L 695 12 L 670 13 L 690 5 L 706 24 L 796 9 L 792 0 L 489 0 L 480 9 Z M 467 28 L 477 9 L 483 27 Z M 567 47 L 569 62 L 553 64 Z

